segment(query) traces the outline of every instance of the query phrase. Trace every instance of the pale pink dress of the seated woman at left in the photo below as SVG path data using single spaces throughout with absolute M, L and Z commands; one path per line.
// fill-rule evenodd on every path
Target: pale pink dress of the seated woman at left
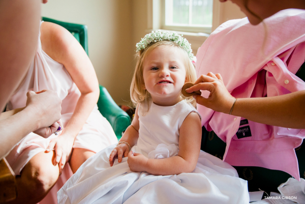
M 10 99 L 7 110 L 24 107 L 26 103 L 26 93 L 28 91 L 38 92 L 45 89 L 56 91 L 58 97 L 62 99 L 62 122 L 65 127 L 75 110 L 81 94 L 64 65 L 51 59 L 51 57 L 42 50 L 39 35 L 35 58 L 29 67 L 28 73 L 22 84 Z M 61 132 L 59 132 L 59 135 L 60 133 Z M 57 136 L 53 134 L 45 139 L 32 132 L 17 143 L 6 157 L 15 174 L 19 175 L 22 168 L 32 157 L 40 152 L 44 152 L 48 147 L 50 140 L 55 137 Z M 73 148 L 83 148 L 97 153 L 114 143 L 117 143 L 114 131 L 96 105 L 83 128 L 76 136 Z M 69 165 L 66 165 L 62 175 L 58 178 L 57 184 L 50 191 L 50 193 L 54 195 L 54 203 L 57 203 L 57 190 L 59 190 L 71 176 L 72 171 Z M 51 196 L 49 196 L 49 194 L 47 197 L 50 199 Z M 52 202 L 48 200 L 46 203 Z

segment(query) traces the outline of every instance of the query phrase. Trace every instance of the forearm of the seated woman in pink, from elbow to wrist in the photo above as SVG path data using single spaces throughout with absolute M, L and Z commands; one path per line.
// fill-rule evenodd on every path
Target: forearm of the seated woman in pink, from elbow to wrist
M 69 120 L 67 126 L 64 127 L 63 133 L 67 133 L 71 137 L 75 138 L 88 119 L 88 116 L 92 112 L 94 106 L 97 104 L 98 98 L 99 93 L 97 92 L 81 94 L 71 119 Z

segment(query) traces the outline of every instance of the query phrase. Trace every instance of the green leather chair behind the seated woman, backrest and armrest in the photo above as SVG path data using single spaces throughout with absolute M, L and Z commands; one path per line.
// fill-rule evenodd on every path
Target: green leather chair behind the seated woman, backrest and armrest
M 56 23 L 65 27 L 76 38 L 76 40 L 78 40 L 78 42 L 88 54 L 88 37 L 86 25 L 62 22 L 46 17 L 43 17 L 42 20 Z M 131 119 L 125 111 L 116 105 L 108 91 L 102 85 L 100 85 L 98 107 L 102 115 L 111 124 L 116 137 L 120 139 L 122 132 L 125 131 L 126 128 L 130 125 Z

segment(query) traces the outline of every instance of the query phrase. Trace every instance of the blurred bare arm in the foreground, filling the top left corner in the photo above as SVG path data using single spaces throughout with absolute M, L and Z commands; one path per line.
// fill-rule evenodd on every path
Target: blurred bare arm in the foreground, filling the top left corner
M 33 61 L 40 11 L 41 0 L 0 1 L 0 111 Z

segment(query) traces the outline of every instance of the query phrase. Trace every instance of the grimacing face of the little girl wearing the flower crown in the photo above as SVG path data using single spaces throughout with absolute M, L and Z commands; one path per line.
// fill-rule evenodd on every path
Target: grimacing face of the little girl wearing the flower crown
M 172 46 L 158 46 L 146 56 L 143 79 L 154 103 L 170 106 L 180 100 L 180 91 L 186 82 L 184 52 Z

